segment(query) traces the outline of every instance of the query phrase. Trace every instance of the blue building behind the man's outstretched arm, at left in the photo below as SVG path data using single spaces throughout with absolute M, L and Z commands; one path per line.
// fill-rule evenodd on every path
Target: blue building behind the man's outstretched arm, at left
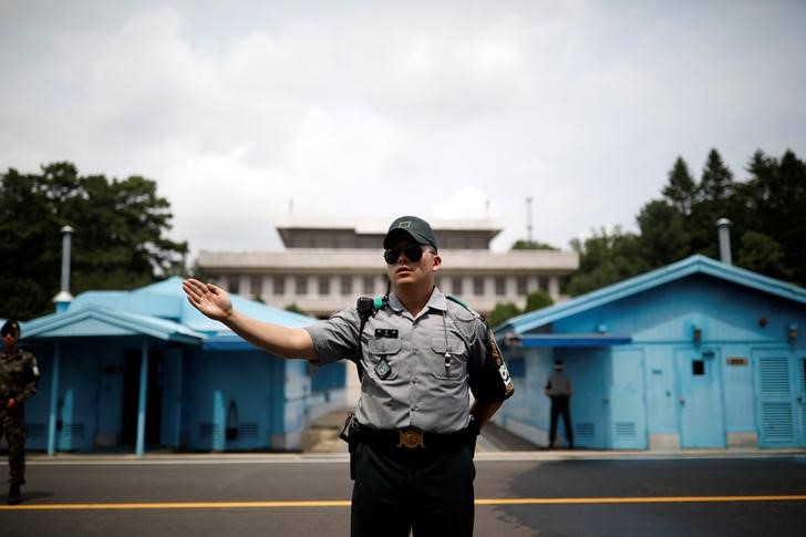
M 314 319 L 234 296 L 287 327 Z M 40 392 L 25 404 L 28 447 L 294 451 L 310 420 L 345 406 L 344 365 L 313 369 L 257 350 L 196 311 L 182 280 L 90 291 L 22 323 Z M 316 373 L 316 374 L 314 374 Z

